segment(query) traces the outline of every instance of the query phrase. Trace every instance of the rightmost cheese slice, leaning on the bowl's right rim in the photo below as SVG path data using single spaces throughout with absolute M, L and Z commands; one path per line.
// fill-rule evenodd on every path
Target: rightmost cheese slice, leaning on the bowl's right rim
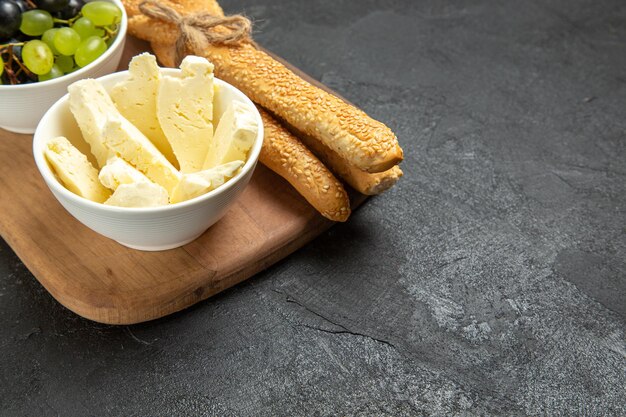
M 258 129 L 254 113 L 245 104 L 232 102 L 217 124 L 203 169 L 231 161 L 245 161 Z

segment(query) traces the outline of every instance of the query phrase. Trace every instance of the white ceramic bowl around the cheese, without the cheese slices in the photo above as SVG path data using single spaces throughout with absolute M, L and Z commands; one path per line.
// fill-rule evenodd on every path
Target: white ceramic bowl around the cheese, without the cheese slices
M 163 68 L 164 74 L 179 74 L 180 70 Z M 99 78 L 106 89 L 125 79 L 128 71 Z M 86 153 L 88 147 L 74 120 L 68 95 L 57 101 L 43 116 L 33 139 L 35 163 L 46 184 L 59 202 L 78 221 L 92 230 L 114 239 L 122 245 L 140 250 L 165 250 L 191 242 L 217 222 L 248 184 L 263 144 L 263 122 L 258 110 L 241 91 L 215 79 L 217 92 L 214 100 L 215 121 L 219 120 L 230 102 L 238 100 L 253 111 L 259 132 L 250 150 L 248 160 L 240 172 L 224 185 L 200 197 L 152 208 L 125 208 L 107 206 L 87 200 L 67 190 L 56 178 L 44 157 L 47 140 L 65 136 Z

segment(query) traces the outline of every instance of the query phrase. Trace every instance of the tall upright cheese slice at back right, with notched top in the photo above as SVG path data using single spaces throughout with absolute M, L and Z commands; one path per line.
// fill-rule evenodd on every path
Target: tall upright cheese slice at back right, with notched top
M 183 173 L 202 169 L 213 138 L 213 64 L 187 56 L 181 76 L 161 77 L 157 117 Z

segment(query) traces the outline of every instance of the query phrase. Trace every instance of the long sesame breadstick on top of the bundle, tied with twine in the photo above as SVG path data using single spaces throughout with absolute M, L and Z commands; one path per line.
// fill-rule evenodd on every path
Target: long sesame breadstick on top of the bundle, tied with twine
M 139 38 L 173 48 L 178 36 L 174 25 L 141 14 L 140 0 L 125 0 L 129 32 Z M 160 3 L 188 14 L 198 10 L 220 15 L 214 0 L 162 0 Z M 238 46 L 211 45 L 202 53 L 215 64 L 216 75 L 235 85 L 253 101 L 279 115 L 299 131 L 324 143 L 350 165 L 382 172 L 402 160 L 402 149 L 393 132 L 363 111 L 311 85 L 271 56 L 242 43 Z M 165 65 L 173 56 L 170 52 Z

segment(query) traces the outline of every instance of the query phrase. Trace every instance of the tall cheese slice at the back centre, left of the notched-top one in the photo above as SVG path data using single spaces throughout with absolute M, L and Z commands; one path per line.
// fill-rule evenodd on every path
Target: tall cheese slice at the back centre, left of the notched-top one
M 128 67 L 128 78 L 111 90 L 119 112 L 148 137 L 174 165 L 176 157 L 157 118 L 157 93 L 161 71 L 154 55 L 135 56 Z

